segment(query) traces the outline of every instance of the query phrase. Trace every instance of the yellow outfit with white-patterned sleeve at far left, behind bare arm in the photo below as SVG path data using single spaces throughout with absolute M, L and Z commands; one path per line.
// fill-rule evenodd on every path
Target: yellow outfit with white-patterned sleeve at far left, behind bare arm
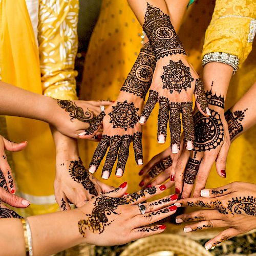
M 78 0 L 27 2 L 32 5 L 25 0 L 0 1 L 2 80 L 34 93 L 76 99 Z M 37 7 L 37 17 L 29 15 L 29 6 Z M 12 154 L 19 193 L 32 203 L 21 214 L 56 211 L 55 150 L 48 124 L 19 117 L 6 121 L 10 140 L 28 141 L 25 150 Z

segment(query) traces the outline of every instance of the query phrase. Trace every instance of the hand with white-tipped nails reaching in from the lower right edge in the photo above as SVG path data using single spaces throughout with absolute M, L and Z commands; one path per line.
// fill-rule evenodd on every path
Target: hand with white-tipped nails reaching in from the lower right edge
M 210 249 L 225 240 L 256 228 L 256 185 L 233 182 L 223 187 L 201 190 L 200 198 L 181 199 L 178 206 L 209 208 L 176 217 L 176 222 L 199 221 L 185 226 L 185 232 L 228 227 L 205 244 Z

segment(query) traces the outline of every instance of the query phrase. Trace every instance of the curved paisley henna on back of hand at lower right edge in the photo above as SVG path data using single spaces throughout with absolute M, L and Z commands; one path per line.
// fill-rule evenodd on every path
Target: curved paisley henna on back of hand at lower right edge
M 239 197 L 228 200 L 228 210 L 232 215 L 247 214 L 256 216 L 256 198 L 255 197 Z

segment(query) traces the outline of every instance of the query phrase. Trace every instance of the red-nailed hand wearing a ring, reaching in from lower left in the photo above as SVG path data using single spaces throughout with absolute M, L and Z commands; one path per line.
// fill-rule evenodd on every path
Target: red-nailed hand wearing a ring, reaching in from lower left
M 95 197 L 76 209 L 80 211 L 79 232 L 87 243 L 119 245 L 164 231 L 164 225 L 147 226 L 174 214 L 177 207 L 170 205 L 177 200 L 177 196 L 143 203 L 161 194 L 165 186 L 151 187 L 123 197 L 126 189 L 125 182 L 108 195 Z M 142 203 L 145 214 L 141 214 L 139 203 Z

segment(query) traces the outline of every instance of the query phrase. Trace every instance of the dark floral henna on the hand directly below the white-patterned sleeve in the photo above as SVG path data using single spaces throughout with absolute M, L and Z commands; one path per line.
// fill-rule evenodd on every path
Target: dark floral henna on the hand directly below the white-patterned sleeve
M 88 190 L 91 195 L 94 195 L 94 196 L 98 195 L 98 192 L 95 189 L 95 185 L 90 179 L 90 174 L 88 170 L 83 166 L 82 160 L 80 159 L 80 157 L 78 161 L 77 160 L 70 161 L 69 174 L 74 181 L 82 184 L 83 187 L 86 190 Z

